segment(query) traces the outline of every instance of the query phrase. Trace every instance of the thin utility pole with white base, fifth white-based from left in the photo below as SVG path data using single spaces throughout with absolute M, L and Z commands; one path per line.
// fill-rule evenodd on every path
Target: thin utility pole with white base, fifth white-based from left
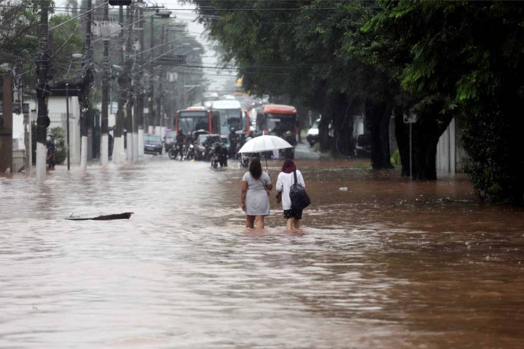
M 127 7 L 127 24 L 130 25 L 133 23 L 133 3 L 131 6 Z M 125 50 L 125 59 L 124 59 L 124 74 L 126 75 L 126 116 L 125 116 L 125 125 L 127 129 L 126 134 L 126 155 L 127 161 L 133 161 L 133 79 L 131 75 L 133 62 L 131 60 L 131 50 L 133 49 L 133 26 L 129 26 L 127 29 L 127 40 L 126 40 L 126 50 Z

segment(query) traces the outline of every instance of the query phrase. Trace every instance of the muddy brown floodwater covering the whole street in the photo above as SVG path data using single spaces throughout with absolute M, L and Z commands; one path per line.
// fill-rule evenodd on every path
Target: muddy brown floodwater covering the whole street
M 465 176 L 297 163 L 300 233 L 273 195 L 267 230 L 243 228 L 236 163 L 0 178 L 0 347 L 524 347 L 522 209 Z

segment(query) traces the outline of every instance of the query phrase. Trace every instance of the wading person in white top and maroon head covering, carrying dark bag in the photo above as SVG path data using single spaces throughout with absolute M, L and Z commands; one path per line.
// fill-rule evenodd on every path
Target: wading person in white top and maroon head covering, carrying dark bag
M 276 189 L 281 193 L 282 210 L 284 211 L 284 218 L 286 219 L 286 227 L 288 231 L 300 228 L 299 220 L 302 219 L 302 210 L 293 209 L 291 206 L 291 199 L 289 198 L 289 189 L 294 184 L 294 173 L 297 174 L 297 183 L 305 188 L 304 178 L 302 173 L 297 170 L 293 160 L 288 159 L 282 165 L 282 172 L 278 174 Z M 278 198 L 277 198 L 278 199 Z

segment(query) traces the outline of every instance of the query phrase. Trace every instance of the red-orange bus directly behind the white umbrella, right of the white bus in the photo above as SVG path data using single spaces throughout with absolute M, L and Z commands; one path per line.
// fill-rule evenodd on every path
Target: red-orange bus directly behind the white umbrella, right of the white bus
M 257 130 L 266 135 L 282 136 L 287 131 L 298 134 L 298 114 L 294 106 L 266 104 L 262 114 L 257 115 Z

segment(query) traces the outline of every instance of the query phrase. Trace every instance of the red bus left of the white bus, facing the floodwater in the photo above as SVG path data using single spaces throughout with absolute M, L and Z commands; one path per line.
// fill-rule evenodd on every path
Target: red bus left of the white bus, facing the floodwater
M 187 135 L 199 129 L 220 133 L 220 113 L 206 107 L 189 107 L 179 110 L 174 118 L 174 129 Z

